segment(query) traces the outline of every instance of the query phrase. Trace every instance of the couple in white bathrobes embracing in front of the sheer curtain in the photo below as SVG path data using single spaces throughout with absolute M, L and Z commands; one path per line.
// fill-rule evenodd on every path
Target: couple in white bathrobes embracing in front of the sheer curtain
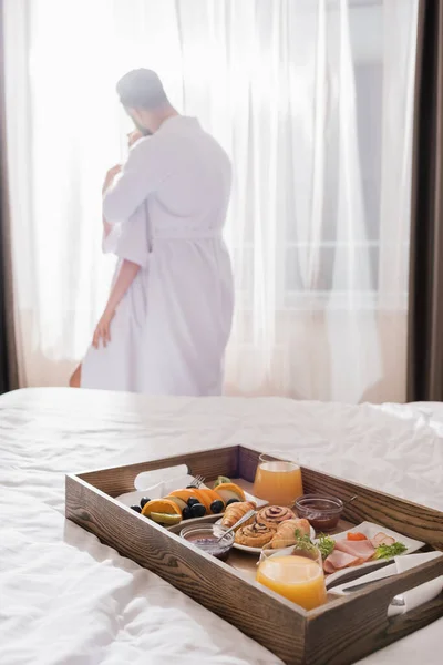
M 106 177 L 103 215 L 122 259 L 82 366 L 83 388 L 214 396 L 223 389 L 234 286 L 223 227 L 230 162 L 158 76 L 132 71 L 117 93 L 142 133 Z M 110 248 L 110 247 L 109 247 Z

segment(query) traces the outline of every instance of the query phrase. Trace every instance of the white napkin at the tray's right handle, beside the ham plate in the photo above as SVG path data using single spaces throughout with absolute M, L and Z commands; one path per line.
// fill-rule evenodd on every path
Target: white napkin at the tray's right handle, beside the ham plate
M 433 559 L 442 556 L 442 552 L 425 552 L 423 554 L 408 554 L 403 556 L 395 556 L 395 566 L 398 573 L 404 573 L 418 565 L 427 563 Z M 411 589 L 405 593 L 395 596 L 394 602 L 403 602 L 403 605 L 391 604 L 388 607 L 388 616 L 395 616 L 398 614 L 405 614 L 415 607 L 420 607 L 423 603 L 427 603 L 435 598 L 443 591 L 443 575 L 430 580 L 415 589 Z

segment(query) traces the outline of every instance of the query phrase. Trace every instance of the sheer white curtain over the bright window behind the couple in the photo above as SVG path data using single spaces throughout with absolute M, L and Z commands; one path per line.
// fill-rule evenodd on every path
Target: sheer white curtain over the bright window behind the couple
M 115 82 L 148 66 L 230 154 L 231 393 L 405 393 L 418 0 L 6 0 L 22 385 L 65 385 L 106 299 Z

